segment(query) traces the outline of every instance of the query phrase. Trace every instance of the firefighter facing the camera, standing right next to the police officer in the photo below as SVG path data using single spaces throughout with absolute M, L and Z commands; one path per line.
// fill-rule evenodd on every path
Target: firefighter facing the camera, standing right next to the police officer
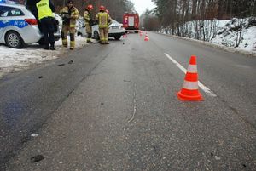
M 61 9 L 60 14 L 62 16 L 62 29 L 61 39 L 62 46 L 67 48 L 67 33 L 70 35 L 70 48 L 71 50 L 75 47 L 75 26 L 76 20 L 79 18 L 79 10 L 73 6 L 73 1 L 68 0 L 67 7 Z

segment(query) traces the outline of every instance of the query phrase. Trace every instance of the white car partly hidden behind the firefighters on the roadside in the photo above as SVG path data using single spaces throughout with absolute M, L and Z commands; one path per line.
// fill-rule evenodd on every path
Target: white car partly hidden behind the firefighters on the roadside
M 91 27 L 91 29 L 92 29 L 92 38 L 100 40 L 99 26 L 94 25 Z M 112 24 L 109 26 L 108 37 L 114 37 L 114 39 L 119 40 L 124 34 L 125 34 L 125 29 L 123 25 L 116 20 L 112 20 Z M 78 35 L 81 35 L 82 37 L 86 36 L 84 26 L 79 28 Z

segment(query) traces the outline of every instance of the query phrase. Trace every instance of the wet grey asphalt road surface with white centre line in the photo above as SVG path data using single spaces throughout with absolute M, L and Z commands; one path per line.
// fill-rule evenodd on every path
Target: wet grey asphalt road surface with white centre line
M 148 37 L 91 44 L 4 77 L 2 168 L 256 170 L 256 59 Z M 201 102 L 177 100 L 191 55 Z

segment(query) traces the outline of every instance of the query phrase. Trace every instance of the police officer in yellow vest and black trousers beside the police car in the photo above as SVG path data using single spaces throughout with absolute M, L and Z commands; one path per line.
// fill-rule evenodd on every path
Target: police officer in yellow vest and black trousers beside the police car
M 41 23 L 44 34 L 44 49 L 55 50 L 55 27 L 54 14 L 55 6 L 49 0 L 41 0 L 37 3 L 38 20 Z M 50 47 L 49 47 L 50 44 Z

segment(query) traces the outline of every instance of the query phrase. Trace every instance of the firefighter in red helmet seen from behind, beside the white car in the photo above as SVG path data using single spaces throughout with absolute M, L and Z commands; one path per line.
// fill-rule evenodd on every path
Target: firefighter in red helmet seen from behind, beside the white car
M 108 43 L 108 26 L 111 23 L 111 17 L 105 11 L 105 7 L 100 7 L 100 12 L 96 14 L 96 22 L 99 24 L 100 31 L 100 41 L 101 44 L 109 44 Z

